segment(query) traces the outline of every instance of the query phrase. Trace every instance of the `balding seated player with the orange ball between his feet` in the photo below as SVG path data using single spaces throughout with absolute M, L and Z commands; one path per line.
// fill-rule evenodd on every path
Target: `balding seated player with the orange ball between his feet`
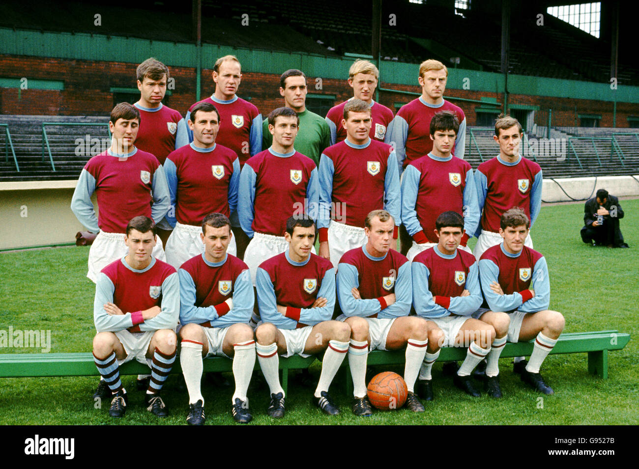
M 425 320 L 408 316 L 412 299 L 410 262 L 390 249 L 395 242 L 395 221 L 389 212 L 370 212 L 364 226 L 366 244 L 346 252 L 337 267 L 337 294 L 343 311 L 337 319 L 351 328 L 348 364 L 355 396 L 353 413 L 366 417 L 373 413 L 366 396 L 368 350 L 404 346 L 406 406 L 413 412 L 424 412 L 413 387 L 426 353 L 428 331 Z

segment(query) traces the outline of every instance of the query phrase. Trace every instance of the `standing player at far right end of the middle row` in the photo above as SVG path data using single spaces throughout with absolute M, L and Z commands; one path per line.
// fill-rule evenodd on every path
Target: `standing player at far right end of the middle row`
M 475 186 L 481 213 L 477 228 L 477 244 L 473 254 L 479 260 L 482 253 L 502 242 L 500 218 L 512 207 L 522 207 L 530 227 L 534 225 L 541 208 L 543 175 L 534 161 L 520 156 L 523 133 L 521 124 L 509 115 L 500 115 L 495 123 L 495 142 L 499 156 L 481 163 L 475 170 Z M 526 246 L 532 249 L 530 235 Z

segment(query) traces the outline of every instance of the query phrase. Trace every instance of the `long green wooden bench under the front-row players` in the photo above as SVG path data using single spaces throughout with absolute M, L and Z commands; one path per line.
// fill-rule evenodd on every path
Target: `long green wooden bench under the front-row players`
M 561 334 L 551 354 L 588 354 L 588 371 L 592 375 L 608 378 L 608 350 L 621 350 L 630 340 L 629 334 L 618 331 L 567 332 Z M 533 342 L 507 343 L 502 357 L 520 357 L 530 355 Z M 466 348 L 442 348 L 438 361 L 461 361 L 466 357 Z M 282 387 L 288 388 L 288 370 L 308 368 L 316 357 L 302 358 L 298 355 L 280 358 Z M 385 352 L 374 350 L 368 356 L 369 365 L 396 365 L 404 363 L 404 350 Z M 256 361 L 255 369 L 259 370 Z M 204 359 L 204 371 L 233 371 L 233 362 L 225 357 Z M 181 373 L 180 361 L 176 360 L 171 373 Z M 137 361 L 125 363 L 120 368 L 123 375 L 149 373 L 146 365 Z M 344 360 L 343 373 L 350 376 L 348 359 Z M 0 378 L 19 378 L 36 376 L 97 376 L 98 369 L 93 362 L 93 354 L 0 354 Z M 344 379 L 346 390 L 352 390 L 352 381 Z

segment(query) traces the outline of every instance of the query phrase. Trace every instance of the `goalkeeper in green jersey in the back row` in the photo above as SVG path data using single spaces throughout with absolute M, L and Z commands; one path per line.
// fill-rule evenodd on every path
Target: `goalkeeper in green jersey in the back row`
M 330 145 L 330 129 L 324 119 L 306 108 L 306 75 L 301 70 L 286 70 L 280 77 L 280 94 L 284 97 L 284 106 L 293 109 L 300 118 L 299 130 L 295 137 L 295 149 L 315 161 L 319 166 L 319 156 Z M 268 119 L 264 119 L 262 128 L 262 148 L 273 143 L 268 131 Z

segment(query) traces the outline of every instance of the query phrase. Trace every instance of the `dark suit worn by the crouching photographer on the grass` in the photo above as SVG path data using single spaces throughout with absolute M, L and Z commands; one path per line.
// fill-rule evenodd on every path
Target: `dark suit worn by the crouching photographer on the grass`
M 581 228 L 581 239 L 583 242 L 590 244 L 595 241 L 597 246 L 608 246 L 612 244 L 615 248 L 619 248 L 624 243 L 624 237 L 619 228 L 619 219 L 624 218 L 624 211 L 619 205 L 619 199 L 614 195 L 608 194 L 606 203 L 603 204 L 604 209 L 610 212 L 603 217 L 603 225 L 593 227 L 592 222 L 597 220 L 597 210 L 599 210 L 597 198 L 589 198 L 583 207 L 583 223 L 585 227 Z M 626 244 L 627 246 L 627 244 Z

